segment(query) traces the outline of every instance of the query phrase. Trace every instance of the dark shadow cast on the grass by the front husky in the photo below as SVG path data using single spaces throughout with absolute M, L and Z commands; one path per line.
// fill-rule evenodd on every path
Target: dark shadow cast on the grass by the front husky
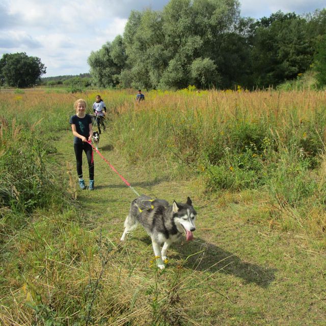
M 241 260 L 235 254 L 205 242 L 201 238 L 196 241 L 185 242 L 177 250 L 182 256 L 188 257 L 184 267 L 207 273 L 223 273 L 243 279 L 246 283 L 255 283 L 261 287 L 268 287 L 275 280 L 277 269 L 264 267 Z M 192 256 L 192 254 L 195 254 Z M 183 256 L 183 258 L 184 258 Z

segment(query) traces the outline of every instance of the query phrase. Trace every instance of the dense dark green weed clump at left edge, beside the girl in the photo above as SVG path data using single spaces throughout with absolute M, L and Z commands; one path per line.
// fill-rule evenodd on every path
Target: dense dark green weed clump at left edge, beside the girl
M 60 210 L 63 188 L 46 163 L 46 154 L 52 149 L 27 131 L 21 131 L 14 143 L 9 135 L 3 137 L 7 145 L 0 159 L 1 206 L 13 212 L 30 213 L 60 203 Z

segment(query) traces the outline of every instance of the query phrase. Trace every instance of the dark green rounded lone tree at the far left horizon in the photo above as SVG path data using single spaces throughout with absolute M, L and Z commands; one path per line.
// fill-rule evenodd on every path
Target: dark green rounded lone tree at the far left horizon
M 35 85 L 46 67 L 40 58 L 29 57 L 25 52 L 5 53 L 0 59 L 0 80 L 2 85 L 28 87 Z

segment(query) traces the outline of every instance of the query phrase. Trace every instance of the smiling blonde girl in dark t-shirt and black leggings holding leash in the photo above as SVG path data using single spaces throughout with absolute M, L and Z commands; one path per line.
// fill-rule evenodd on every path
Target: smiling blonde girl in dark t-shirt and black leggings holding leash
M 78 175 L 78 182 L 81 189 L 86 189 L 83 178 L 83 151 L 86 153 L 88 168 L 89 168 L 89 189 L 94 190 L 94 160 L 93 149 L 89 144 L 92 140 L 93 126 L 92 116 L 86 114 L 86 101 L 82 98 L 74 103 L 76 114 L 70 117 L 72 133 L 74 135 L 73 147 L 76 155 L 76 169 Z

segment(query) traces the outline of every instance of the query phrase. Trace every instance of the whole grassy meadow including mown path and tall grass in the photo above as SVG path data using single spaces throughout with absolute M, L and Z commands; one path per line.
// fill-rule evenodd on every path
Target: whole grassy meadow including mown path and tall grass
M 98 93 L 101 153 L 139 193 L 198 212 L 164 271 L 143 230 L 120 243 L 135 195 L 99 156 L 95 191 L 77 188 L 69 117 Z M 145 96 L 0 92 L 1 322 L 323 325 L 324 92 Z

